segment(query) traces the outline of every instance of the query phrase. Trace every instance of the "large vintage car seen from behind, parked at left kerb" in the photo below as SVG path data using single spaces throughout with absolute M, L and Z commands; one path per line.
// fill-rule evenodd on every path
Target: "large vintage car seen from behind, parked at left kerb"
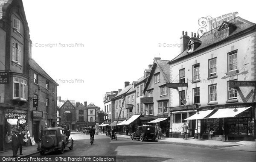
M 38 151 L 44 155 L 48 151 L 64 153 L 65 148 L 73 149 L 74 140 L 66 137 L 65 129 L 61 127 L 44 128 L 41 130 L 41 138 L 38 142 Z

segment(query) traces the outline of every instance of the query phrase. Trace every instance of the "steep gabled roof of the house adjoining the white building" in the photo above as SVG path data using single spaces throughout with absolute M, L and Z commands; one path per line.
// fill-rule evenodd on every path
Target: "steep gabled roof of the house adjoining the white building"
M 163 83 L 169 83 L 171 79 L 171 74 L 170 74 L 170 65 L 168 64 L 169 60 L 159 60 L 159 59 L 154 59 L 153 65 L 151 67 L 150 73 L 147 76 L 148 79 L 145 84 L 144 92 L 148 87 L 148 84 L 151 81 L 151 78 L 154 74 L 154 70 L 156 67 L 159 67 L 160 73 L 163 75 L 163 77 L 166 79 L 166 81 L 163 81 Z

